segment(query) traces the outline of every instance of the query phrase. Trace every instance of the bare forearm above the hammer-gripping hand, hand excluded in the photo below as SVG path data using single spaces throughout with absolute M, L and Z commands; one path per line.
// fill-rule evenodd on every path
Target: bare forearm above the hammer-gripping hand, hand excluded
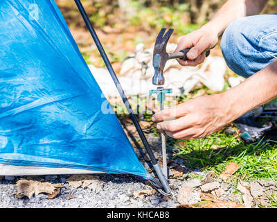
M 265 3 L 267 0 L 229 0 L 204 27 L 208 27 L 220 36 L 233 20 L 259 14 Z

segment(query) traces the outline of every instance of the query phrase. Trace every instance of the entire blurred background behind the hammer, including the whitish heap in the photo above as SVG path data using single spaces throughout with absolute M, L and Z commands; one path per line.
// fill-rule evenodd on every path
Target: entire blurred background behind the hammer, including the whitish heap
M 55 0 L 69 25 L 84 60 L 117 114 L 127 113 L 73 0 Z M 152 51 L 161 28 L 174 28 L 168 51 L 176 49 L 177 37 L 197 30 L 208 22 L 226 0 L 82 0 L 89 19 L 118 75 L 132 107 L 151 114 L 159 106 L 149 99 L 154 89 Z M 277 11 L 277 0 L 269 0 L 262 14 Z M 181 67 L 176 60 L 164 70 L 166 88 L 172 88 L 166 106 L 183 103 L 205 94 L 223 92 L 244 78 L 226 66 L 220 44 L 202 65 Z M 104 68 L 104 69 L 102 69 Z M 157 97 L 157 96 L 156 96 Z

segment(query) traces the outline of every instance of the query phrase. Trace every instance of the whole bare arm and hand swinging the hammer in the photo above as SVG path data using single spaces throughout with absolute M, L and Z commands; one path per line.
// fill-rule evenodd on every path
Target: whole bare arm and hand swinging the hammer
M 197 31 L 179 37 L 177 49 L 191 48 L 187 61 L 178 60 L 181 65 L 198 65 L 205 59 L 205 51 L 213 49 L 226 27 L 240 17 L 256 15 L 264 8 L 267 0 L 229 0 L 210 22 Z

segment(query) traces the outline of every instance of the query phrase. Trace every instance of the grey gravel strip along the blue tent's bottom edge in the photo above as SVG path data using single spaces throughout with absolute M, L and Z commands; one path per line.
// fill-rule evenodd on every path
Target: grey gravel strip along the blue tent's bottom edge
M 71 175 L 61 176 L 37 176 L 40 181 L 50 181 L 53 183 L 64 183 L 66 178 Z M 145 185 L 143 178 L 133 175 L 112 175 L 112 174 L 97 174 L 103 182 L 102 190 L 96 194 L 88 188 L 79 187 L 74 189 L 67 182 L 60 189 L 58 194 L 53 199 L 48 199 L 47 194 L 38 194 L 30 200 L 27 197 L 22 199 L 16 198 L 13 193 L 17 191 L 16 182 L 26 176 L 10 177 L 6 176 L 0 180 L 0 207 L 3 208 L 61 208 L 61 207 L 95 207 L 95 208 L 114 208 L 114 207 L 177 207 L 177 200 L 162 200 L 159 193 L 144 198 L 134 198 L 135 190 L 150 189 Z M 7 180 L 8 179 L 8 180 Z M 171 182 L 174 180 L 171 180 Z M 176 184 L 177 185 L 177 184 Z M 177 190 L 173 190 L 177 196 Z M 71 197 L 69 198 L 69 194 Z

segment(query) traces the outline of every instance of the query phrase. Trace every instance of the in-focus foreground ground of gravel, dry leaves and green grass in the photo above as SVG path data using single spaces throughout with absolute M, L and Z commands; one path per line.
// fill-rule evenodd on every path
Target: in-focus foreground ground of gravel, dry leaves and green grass
M 130 119 L 119 119 L 139 160 L 154 176 Z M 141 121 L 141 126 L 161 160 L 153 123 Z M 0 180 L 0 207 L 277 207 L 275 145 L 244 144 L 236 133 L 236 128 L 229 126 L 206 139 L 168 138 L 169 197 L 132 175 L 6 176 Z M 24 186 L 17 186 L 20 181 L 39 181 L 41 186 L 50 182 L 59 188 L 52 196 L 42 189 L 28 198 Z

